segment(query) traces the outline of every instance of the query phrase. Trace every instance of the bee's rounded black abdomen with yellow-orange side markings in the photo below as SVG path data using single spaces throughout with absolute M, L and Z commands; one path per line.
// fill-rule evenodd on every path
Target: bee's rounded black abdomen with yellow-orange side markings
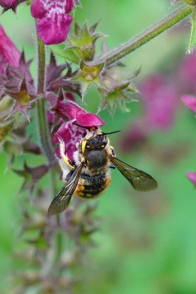
M 93 198 L 100 196 L 109 186 L 110 181 L 111 176 L 109 172 L 95 177 L 82 174 L 81 179 L 79 180 L 74 191 L 74 195 L 81 198 Z

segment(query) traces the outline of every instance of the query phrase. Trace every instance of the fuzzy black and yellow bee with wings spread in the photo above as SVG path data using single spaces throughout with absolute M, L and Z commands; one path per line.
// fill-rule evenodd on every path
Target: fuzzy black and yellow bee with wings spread
M 137 191 L 150 191 L 157 188 L 156 180 L 146 172 L 126 164 L 116 157 L 107 135 L 120 131 L 103 133 L 99 128 L 87 129 L 82 135 L 73 162 L 65 154 L 63 139 L 56 133 L 60 143 L 59 160 L 65 185 L 51 202 L 49 215 L 63 212 L 70 204 L 72 196 L 82 199 L 98 197 L 111 182 L 110 169 L 118 169 Z

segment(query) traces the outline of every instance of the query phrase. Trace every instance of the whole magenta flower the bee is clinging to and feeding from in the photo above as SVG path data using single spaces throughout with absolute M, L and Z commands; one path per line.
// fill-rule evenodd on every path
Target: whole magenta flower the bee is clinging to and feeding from
M 58 101 L 56 106 L 57 110 L 60 115 L 66 116 L 70 120 L 60 126 L 57 134 L 65 142 L 65 152 L 68 154 L 68 157 L 73 160 L 73 152 L 76 150 L 75 144 L 80 142 L 81 136 L 86 132 L 86 129 L 83 127 L 97 127 L 105 123 L 96 114 L 87 113 L 72 101 Z M 53 141 L 59 143 L 56 135 L 54 135 Z M 59 147 L 57 149 L 57 156 L 60 157 Z

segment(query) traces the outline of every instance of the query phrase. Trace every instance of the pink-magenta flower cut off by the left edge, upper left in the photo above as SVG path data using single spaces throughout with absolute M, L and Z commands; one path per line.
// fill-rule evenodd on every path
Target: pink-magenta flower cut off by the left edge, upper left
M 0 74 L 5 73 L 6 65 L 17 67 L 20 60 L 20 52 L 10 41 L 0 25 Z

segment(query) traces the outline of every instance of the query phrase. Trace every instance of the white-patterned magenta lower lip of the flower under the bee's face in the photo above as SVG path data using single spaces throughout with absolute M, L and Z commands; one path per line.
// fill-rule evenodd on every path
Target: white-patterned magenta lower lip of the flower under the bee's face
M 73 121 L 63 123 L 57 131 L 57 134 L 61 136 L 65 142 L 65 153 L 73 161 L 73 153 L 76 151 L 76 143 L 80 142 L 82 134 L 86 130 L 82 127 L 79 127 L 73 124 Z M 55 143 L 59 143 L 56 135 L 53 137 Z M 56 152 L 57 156 L 60 157 L 59 147 Z

